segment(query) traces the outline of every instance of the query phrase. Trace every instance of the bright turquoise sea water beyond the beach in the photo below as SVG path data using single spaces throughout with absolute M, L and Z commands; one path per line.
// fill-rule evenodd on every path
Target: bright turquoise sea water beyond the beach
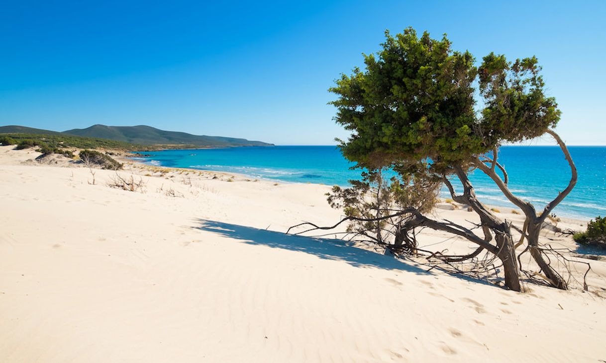
M 606 215 L 606 146 L 570 146 L 569 150 L 579 178 L 554 213 L 584 219 Z M 140 154 L 135 159 L 151 165 L 236 172 L 293 183 L 347 186 L 348 180 L 359 178 L 359 171 L 349 169 L 353 164 L 335 146 L 255 146 Z M 511 191 L 538 209 L 556 197 L 570 180 L 568 163 L 558 146 L 503 146 L 499 161 L 507 169 Z M 484 203 L 513 207 L 481 171 L 473 172 L 470 179 Z M 448 196 L 446 191 L 443 195 Z

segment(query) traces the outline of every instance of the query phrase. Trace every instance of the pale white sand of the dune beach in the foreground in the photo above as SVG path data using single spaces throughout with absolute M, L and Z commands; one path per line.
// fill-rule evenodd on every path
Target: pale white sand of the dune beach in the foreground
M 596 293 L 515 293 L 284 235 L 338 220 L 327 186 L 171 172 L 142 194 L 108 188 L 110 171 L 90 185 L 85 168 L 22 165 L 36 155 L 0 147 L 0 362 L 606 360 Z

